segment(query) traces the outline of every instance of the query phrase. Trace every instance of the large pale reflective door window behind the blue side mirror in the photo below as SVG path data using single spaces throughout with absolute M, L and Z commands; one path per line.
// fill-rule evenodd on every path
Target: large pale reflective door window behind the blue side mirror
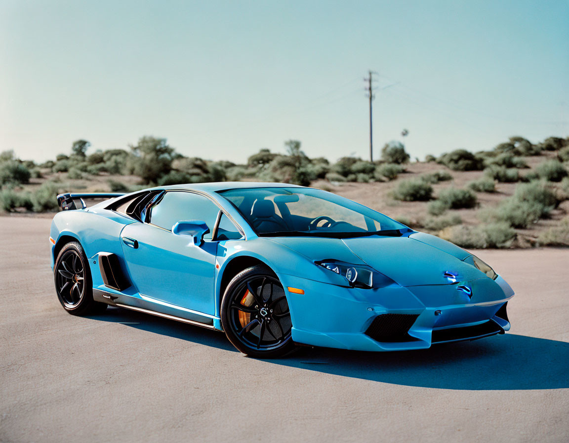
M 203 220 L 209 227 L 204 239 L 211 239 L 219 211 L 217 205 L 203 195 L 171 191 L 150 208 L 150 223 L 170 231 L 183 220 Z

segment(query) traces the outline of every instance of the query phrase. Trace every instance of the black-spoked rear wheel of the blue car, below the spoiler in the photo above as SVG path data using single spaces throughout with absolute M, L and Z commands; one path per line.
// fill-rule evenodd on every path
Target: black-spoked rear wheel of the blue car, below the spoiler
M 53 266 L 55 291 L 61 306 L 73 315 L 102 313 L 108 306 L 93 300 L 89 260 L 77 241 L 64 245 Z

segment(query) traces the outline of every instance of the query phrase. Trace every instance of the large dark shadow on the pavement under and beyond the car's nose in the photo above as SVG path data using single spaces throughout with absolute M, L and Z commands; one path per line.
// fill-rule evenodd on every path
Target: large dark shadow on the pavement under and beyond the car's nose
M 468 389 L 569 388 L 569 343 L 505 334 L 430 349 L 358 352 L 305 348 L 271 363 L 407 386 Z

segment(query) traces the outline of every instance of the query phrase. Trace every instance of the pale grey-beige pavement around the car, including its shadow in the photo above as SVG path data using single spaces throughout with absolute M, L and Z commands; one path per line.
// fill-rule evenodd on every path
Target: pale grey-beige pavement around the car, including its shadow
M 50 222 L 0 218 L 2 442 L 569 441 L 569 249 L 476 251 L 516 292 L 505 335 L 263 361 L 151 315 L 67 314 Z

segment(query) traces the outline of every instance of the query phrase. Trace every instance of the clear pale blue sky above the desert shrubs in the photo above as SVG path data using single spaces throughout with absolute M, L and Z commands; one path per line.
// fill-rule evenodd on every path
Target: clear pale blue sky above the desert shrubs
M 44 160 L 167 137 L 245 161 L 294 138 L 412 157 L 569 133 L 567 1 L 0 3 L 0 150 Z

